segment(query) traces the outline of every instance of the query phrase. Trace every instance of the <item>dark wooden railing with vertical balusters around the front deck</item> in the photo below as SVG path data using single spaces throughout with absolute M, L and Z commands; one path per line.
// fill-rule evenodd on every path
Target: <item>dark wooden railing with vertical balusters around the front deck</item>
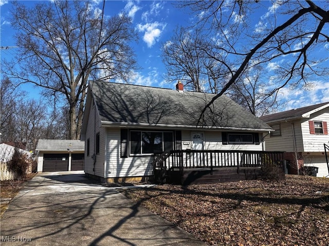
M 154 154 L 154 171 L 179 170 L 191 168 L 236 168 L 263 167 L 266 164 L 279 164 L 283 168 L 283 153 L 273 151 L 234 151 L 234 150 L 172 150 Z

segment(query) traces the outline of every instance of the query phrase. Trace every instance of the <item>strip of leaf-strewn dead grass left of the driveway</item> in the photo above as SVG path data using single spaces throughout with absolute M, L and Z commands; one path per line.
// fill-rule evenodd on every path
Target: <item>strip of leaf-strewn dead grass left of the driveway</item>
M 24 187 L 24 182 L 32 179 L 35 176 L 35 173 L 28 174 L 27 178 L 22 181 L 17 180 L 4 180 L 0 181 L 0 215 L 2 215 L 8 208 L 8 203 L 4 202 L 5 200 L 13 199 L 20 190 Z M 10 200 L 9 200 L 10 202 Z

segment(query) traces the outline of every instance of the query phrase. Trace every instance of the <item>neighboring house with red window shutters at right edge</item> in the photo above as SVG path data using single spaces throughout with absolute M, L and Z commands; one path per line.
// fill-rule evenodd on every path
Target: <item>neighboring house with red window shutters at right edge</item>
M 289 173 L 297 174 L 303 166 L 310 166 L 319 168 L 318 177 L 328 176 L 323 144 L 329 145 L 329 103 L 265 115 L 261 119 L 275 129 L 265 137 L 265 150 L 285 151 Z

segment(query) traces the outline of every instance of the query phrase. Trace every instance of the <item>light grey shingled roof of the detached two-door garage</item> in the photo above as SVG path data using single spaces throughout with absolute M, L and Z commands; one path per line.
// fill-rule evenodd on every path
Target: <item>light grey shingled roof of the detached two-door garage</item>
M 67 151 L 68 149 L 71 151 L 84 151 L 84 141 L 39 139 L 35 148 L 36 151 Z

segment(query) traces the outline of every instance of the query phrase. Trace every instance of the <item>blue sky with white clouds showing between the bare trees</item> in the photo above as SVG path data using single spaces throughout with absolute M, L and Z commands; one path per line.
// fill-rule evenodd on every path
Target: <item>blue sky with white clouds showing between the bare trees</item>
M 102 9 L 103 1 L 93 1 L 95 9 Z M 172 4 L 174 1 L 106 1 L 104 14 L 113 16 L 126 12 L 133 18 L 133 24 L 138 31 L 139 42 L 132 44 L 137 55 L 137 61 L 142 68 L 136 71 L 134 83 L 163 88 L 174 88 L 174 85 L 165 83 L 163 74 L 165 66 L 161 61 L 161 45 L 169 40 L 177 26 L 189 26 L 193 16 L 187 10 L 177 9 Z M 35 1 L 24 1 L 24 4 L 33 6 Z M 262 16 L 268 15 L 273 10 L 269 1 L 263 1 L 263 12 L 254 18 L 254 28 L 259 28 Z M 0 0 L 1 8 L 1 46 L 15 46 L 13 30 L 10 27 L 9 8 L 10 1 Z M 12 48 L 1 50 L 1 59 L 9 59 L 15 50 Z M 326 47 L 328 51 L 329 47 Z M 328 54 L 329 57 L 329 54 Z M 268 64 L 271 69 L 273 64 Z M 275 66 L 275 65 L 273 65 Z M 329 66 L 329 64 L 328 64 Z M 32 86 L 25 86 L 24 90 L 31 97 L 38 96 L 38 90 Z M 279 98 L 285 99 L 287 104 L 284 109 L 299 108 L 317 103 L 329 101 L 329 81 L 314 81 L 312 90 L 289 90 L 284 88 Z

